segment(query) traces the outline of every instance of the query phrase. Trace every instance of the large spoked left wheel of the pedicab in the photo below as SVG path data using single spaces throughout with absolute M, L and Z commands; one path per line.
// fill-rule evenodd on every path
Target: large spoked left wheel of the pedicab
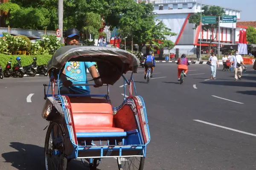
M 46 170 L 67 169 L 67 142 L 64 127 L 59 122 L 51 122 L 45 139 L 44 160 Z

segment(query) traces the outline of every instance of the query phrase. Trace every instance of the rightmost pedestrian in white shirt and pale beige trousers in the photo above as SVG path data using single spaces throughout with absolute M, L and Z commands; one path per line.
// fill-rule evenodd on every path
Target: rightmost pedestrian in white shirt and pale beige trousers
M 238 75 L 239 80 L 241 80 L 242 71 L 243 71 L 241 64 L 244 65 L 244 60 L 243 60 L 242 56 L 240 54 L 238 54 L 238 51 L 236 51 L 236 55 L 233 56 L 233 58 L 231 59 L 231 64 L 233 64 L 233 68 L 234 68 L 234 72 L 235 72 L 235 81 L 237 81 L 237 73 L 239 74 Z

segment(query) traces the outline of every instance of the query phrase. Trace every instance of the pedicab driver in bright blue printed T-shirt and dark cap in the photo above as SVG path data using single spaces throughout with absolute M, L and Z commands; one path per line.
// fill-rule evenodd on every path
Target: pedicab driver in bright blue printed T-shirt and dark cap
M 78 45 L 79 44 L 79 31 L 76 28 L 70 28 L 65 33 L 64 42 L 65 45 Z M 71 86 L 73 82 L 75 84 L 88 84 L 87 81 L 87 69 L 89 70 L 93 79 L 99 77 L 96 70 L 95 62 L 66 62 L 63 73 L 65 75 L 61 75 L 61 82 L 64 86 L 60 88 L 60 94 L 90 94 L 89 86 Z M 75 79 L 75 80 L 74 80 Z M 102 86 L 102 82 L 100 79 L 94 80 L 94 87 Z

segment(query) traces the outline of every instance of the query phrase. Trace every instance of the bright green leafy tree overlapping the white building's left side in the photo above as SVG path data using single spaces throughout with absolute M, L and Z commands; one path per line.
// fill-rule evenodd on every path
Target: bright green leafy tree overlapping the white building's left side
M 128 18 L 131 17 L 130 20 L 121 20 L 123 23 L 119 24 L 119 33 L 122 37 L 128 37 L 128 41 L 134 41 L 139 45 L 138 51 L 142 51 L 142 48 L 148 43 L 151 49 L 153 49 L 153 44 L 160 47 L 162 42 L 158 40 L 163 41 L 166 36 L 176 35 L 162 21 L 154 19 L 156 15 L 152 14 L 154 7 L 151 3 L 135 3 L 134 6 L 137 6 L 139 11 L 136 14 L 130 12 L 131 16 L 128 16 Z M 137 17 L 133 17 L 134 15 Z

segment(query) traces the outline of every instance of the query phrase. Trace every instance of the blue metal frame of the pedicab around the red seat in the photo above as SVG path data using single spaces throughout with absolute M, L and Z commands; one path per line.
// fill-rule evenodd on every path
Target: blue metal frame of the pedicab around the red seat
M 135 87 L 135 83 L 134 83 L 134 79 L 133 79 L 133 73 L 131 74 L 131 78 L 129 80 L 126 79 L 124 77 L 124 75 L 122 75 L 122 77 L 124 79 L 124 102 L 119 107 L 113 108 L 113 111 L 118 111 L 128 101 L 125 98 L 125 84 L 131 85 L 131 82 L 133 82 L 135 94 L 137 95 L 137 91 L 136 91 L 136 87 Z M 52 78 L 53 77 L 50 78 L 46 96 L 52 96 L 52 94 L 49 94 L 49 87 L 51 85 L 51 79 Z M 146 156 L 146 145 L 148 144 L 149 141 L 147 143 L 143 144 L 143 139 L 141 138 L 141 135 L 140 135 L 141 132 L 139 132 L 137 129 L 127 131 L 127 132 L 76 133 L 77 138 L 74 139 L 74 140 L 77 140 L 78 142 L 83 142 L 84 141 L 85 145 L 82 146 L 82 145 L 76 144 L 75 141 L 73 141 L 72 132 L 70 131 L 72 127 L 70 127 L 68 125 L 70 123 L 68 121 L 68 113 L 67 113 L 68 108 L 65 108 L 65 106 L 66 106 L 65 101 L 64 101 L 63 97 L 59 94 L 60 86 L 61 86 L 60 83 L 59 83 L 59 75 L 58 75 L 58 79 L 57 79 L 57 84 L 58 84 L 58 94 L 53 94 L 53 95 L 54 95 L 56 100 L 61 101 L 62 109 L 63 109 L 64 116 L 65 116 L 64 119 L 65 119 L 65 121 L 67 123 L 67 126 L 68 126 L 67 127 L 68 133 L 70 134 L 69 135 L 70 136 L 70 141 L 71 141 L 71 143 L 73 144 L 73 147 L 74 147 L 72 155 L 67 156 L 68 159 L 70 159 L 70 158 L 76 158 L 77 159 L 79 151 L 87 152 L 87 151 L 90 151 L 90 150 L 94 150 L 94 151 L 98 150 L 100 152 L 99 158 L 111 157 L 111 156 L 103 156 L 103 152 L 106 151 L 106 150 L 109 151 L 110 149 L 111 149 L 111 152 L 112 151 L 119 151 L 119 157 L 122 156 L 122 151 L 131 151 L 131 150 L 141 151 L 140 154 L 142 154 L 143 157 Z M 67 95 L 63 95 L 63 96 L 92 96 L 92 97 L 96 96 L 96 97 L 106 97 L 108 99 L 108 95 L 106 95 L 106 94 L 105 95 L 101 95 L 101 94 L 80 94 L 80 95 L 67 94 Z M 141 97 L 140 97 L 140 99 L 142 100 L 142 103 L 143 103 L 143 112 L 146 115 L 144 101 Z M 147 122 L 147 120 L 146 120 L 146 122 Z M 149 133 L 149 130 L 148 130 L 148 133 Z M 87 138 L 90 138 L 90 139 L 93 139 L 93 140 L 98 138 L 98 141 L 100 142 L 100 144 L 102 144 L 102 141 L 99 138 L 106 138 L 107 141 L 108 141 L 108 145 L 105 145 L 105 146 L 95 145 L 93 143 L 93 140 L 92 140 L 92 145 L 91 144 L 87 145 L 86 141 L 85 141 L 85 139 L 87 139 Z M 112 141 L 114 139 L 114 141 L 115 141 L 115 144 L 111 145 L 112 146 L 111 148 L 109 146 L 110 145 L 110 139 Z M 122 146 L 117 145 L 117 140 L 116 139 L 119 139 L 119 140 L 122 141 L 122 143 L 123 143 Z M 95 158 L 95 156 L 93 158 Z M 89 161 L 90 163 L 93 162 L 93 159 L 89 159 L 89 160 L 90 160 Z

